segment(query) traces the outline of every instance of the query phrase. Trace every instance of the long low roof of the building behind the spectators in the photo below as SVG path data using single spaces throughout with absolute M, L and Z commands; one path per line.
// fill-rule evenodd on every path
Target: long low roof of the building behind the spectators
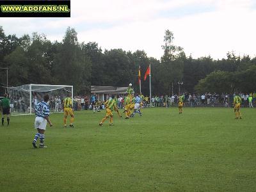
M 91 86 L 91 93 L 116 93 L 116 94 L 124 94 L 127 92 L 126 86 Z

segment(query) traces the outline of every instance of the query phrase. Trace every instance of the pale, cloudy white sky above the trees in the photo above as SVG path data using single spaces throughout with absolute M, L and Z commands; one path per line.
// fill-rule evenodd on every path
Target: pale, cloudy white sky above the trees
M 164 32 L 193 58 L 256 56 L 256 0 L 71 0 L 70 18 L 0 18 L 6 35 L 44 33 L 63 39 L 70 26 L 79 42 L 104 49 L 144 50 L 163 56 Z

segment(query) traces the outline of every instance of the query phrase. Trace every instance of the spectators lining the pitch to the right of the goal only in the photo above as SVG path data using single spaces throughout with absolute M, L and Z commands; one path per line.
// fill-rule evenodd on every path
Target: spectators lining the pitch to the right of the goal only
M 195 106 L 224 106 L 232 107 L 234 94 L 228 93 L 202 93 L 202 94 L 191 94 L 184 93 L 185 100 L 184 105 L 195 107 Z M 248 106 L 250 104 L 250 97 L 252 97 L 252 102 L 250 107 L 256 106 L 256 92 L 254 93 L 239 93 L 239 97 L 242 99 L 242 106 Z M 104 101 L 100 101 L 95 97 L 96 106 L 99 109 L 104 109 Z M 172 96 L 153 96 L 151 98 L 152 107 L 172 107 L 177 106 L 179 100 L 178 95 L 174 94 Z M 124 95 L 119 95 L 117 98 L 117 105 L 119 109 L 124 108 Z M 143 108 L 148 108 L 150 106 L 150 98 L 148 96 L 143 97 Z M 88 110 L 92 109 L 92 103 L 88 97 L 74 97 L 74 110 Z

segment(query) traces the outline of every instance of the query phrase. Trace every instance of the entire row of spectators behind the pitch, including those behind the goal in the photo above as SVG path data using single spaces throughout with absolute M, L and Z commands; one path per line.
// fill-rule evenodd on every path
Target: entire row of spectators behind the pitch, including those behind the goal
M 234 94 L 228 93 L 202 93 L 202 94 L 191 94 L 185 93 L 184 106 L 224 106 L 232 107 Z M 239 97 L 242 100 L 242 106 L 253 108 L 256 106 L 256 92 L 253 93 L 239 93 Z M 34 104 L 40 100 L 40 98 L 33 97 L 32 111 Z M 63 111 L 62 105 L 63 98 L 56 96 L 49 100 L 51 106 L 51 111 L 58 112 Z M 148 108 L 150 106 L 150 98 L 148 96 L 143 96 L 143 108 Z M 10 99 L 10 107 L 12 111 L 17 112 L 29 112 L 29 100 L 25 97 L 14 97 Z M 75 96 L 73 100 L 74 111 L 83 111 L 92 109 L 92 102 L 90 96 Z M 174 94 L 172 96 L 159 95 L 153 96 L 151 98 L 152 107 L 167 107 L 177 106 L 179 100 L 178 95 Z M 119 109 L 124 108 L 124 95 L 119 95 L 117 98 L 117 105 Z M 95 95 L 95 106 L 99 109 L 104 109 L 104 100 L 98 100 L 97 95 Z

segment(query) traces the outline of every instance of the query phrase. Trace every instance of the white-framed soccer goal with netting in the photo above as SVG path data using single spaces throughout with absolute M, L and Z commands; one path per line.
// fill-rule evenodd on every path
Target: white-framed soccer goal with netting
M 51 113 L 63 111 L 62 101 L 68 95 L 73 98 L 73 86 L 51 84 L 24 84 L 22 86 L 8 87 L 11 115 L 33 114 L 37 102 L 44 100 L 49 94 Z

